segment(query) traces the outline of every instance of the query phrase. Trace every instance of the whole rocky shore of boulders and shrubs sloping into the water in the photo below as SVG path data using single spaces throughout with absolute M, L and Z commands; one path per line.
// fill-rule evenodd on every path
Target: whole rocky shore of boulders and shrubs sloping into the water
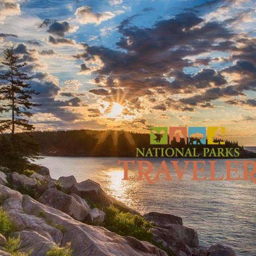
M 199 245 L 196 231 L 183 226 L 180 217 L 158 212 L 141 216 L 107 195 L 99 183 L 92 180 L 77 182 L 74 176 L 54 180 L 49 169 L 43 166 L 39 171 L 26 175 L 0 167 L 0 184 L 1 211 L 7 214 L 15 227 L 6 232 L 7 235 L 0 234 L 0 256 L 236 255 L 230 247 L 220 244 L 208 248 Z M 110 210 L 118 217 L 114 223 L 111 222 Z M 2 219 L 0 229 L 3 227 Z M 124 226 L 126 219 L 128 225 Z M 117 220 L 123 221 L 125 230 L 115 229 Z M 148 229 L 145 234 L 151 243 L 116 234 L 130 232 L 129 223 Z M 109 231 L 108 227 L 117 230 L 116 233 Z M 139 236 L 136 230 L 134 234 Z M 10 253 L 10 246 L 7 246 L 10 237 L 19 237 L 20 254 Z M 54 250 L 68 246 L 71 254 L 54 254 Z

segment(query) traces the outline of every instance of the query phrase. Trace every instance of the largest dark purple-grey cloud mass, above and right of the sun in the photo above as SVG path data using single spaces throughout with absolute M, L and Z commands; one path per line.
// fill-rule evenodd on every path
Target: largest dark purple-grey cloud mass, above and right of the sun
M 227 84 L 225 76 L 212 68 L 199 70 L 196 74 L 183 71 L 194 66 L 188 56 L 198 56 L 217 48 L 219 51 L 234 48 L 229 42 L 234 33 L 225 25 L 204 22 L 194 13 L 181 13 L 169 20 L 158 21 L 151 28 L 130 26 L 135 17 L 138 15 L 125 19 L 118 26 L 121 38 L 116 45 L 121 50 L 83 44 L 84 52 L 75 56 L 84 59 L 85 63 L 94 64 L 91 70 L 89 66 L 81 66 L 80 73 L 98 74 L 93 82 L 105 89 L 91 92 L 101 93 L 103 97 L 110 94 L 107 90 L 122 87 L 127 101 L 131 103 L 135 97 L 148 95 L 151 89 L 158 93 L 194 93 L 197 89 Z M 175 103 L 176 108 L 194 110 L 190 106 L 177 107 L 178 103 Z

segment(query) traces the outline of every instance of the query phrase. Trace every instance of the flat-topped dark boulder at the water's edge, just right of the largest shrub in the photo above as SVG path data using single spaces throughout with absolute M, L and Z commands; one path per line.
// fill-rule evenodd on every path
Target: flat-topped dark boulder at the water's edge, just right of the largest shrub
M 182 225 L 182 218 L 172 214 L 149 212 L 143 215 L 143 217 L 146 220 L 153 222 L 158 227 L 162 227 L 163 225 L 169 225 L 169 224 Z

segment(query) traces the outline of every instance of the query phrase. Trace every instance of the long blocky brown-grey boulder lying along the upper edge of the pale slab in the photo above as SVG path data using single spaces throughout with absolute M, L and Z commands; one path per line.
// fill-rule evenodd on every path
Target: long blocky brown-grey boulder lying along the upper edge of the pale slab
M 89 213 L 89 210 L 79 204 L 73 196 L 52 188 L 45 191 L 39 198 L 39 202 L 65 212 L 79 221 L 84 221 Z

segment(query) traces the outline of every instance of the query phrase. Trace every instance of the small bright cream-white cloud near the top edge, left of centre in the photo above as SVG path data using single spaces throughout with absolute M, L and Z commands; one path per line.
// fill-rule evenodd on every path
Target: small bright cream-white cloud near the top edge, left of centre
M 93 13 L 91 7 L 82 6 L 76 9 L 75 15 L 81 24 L 95 23 L 99 25 L 102 21 L 115 17 L 116 14 L 113 12 Z

